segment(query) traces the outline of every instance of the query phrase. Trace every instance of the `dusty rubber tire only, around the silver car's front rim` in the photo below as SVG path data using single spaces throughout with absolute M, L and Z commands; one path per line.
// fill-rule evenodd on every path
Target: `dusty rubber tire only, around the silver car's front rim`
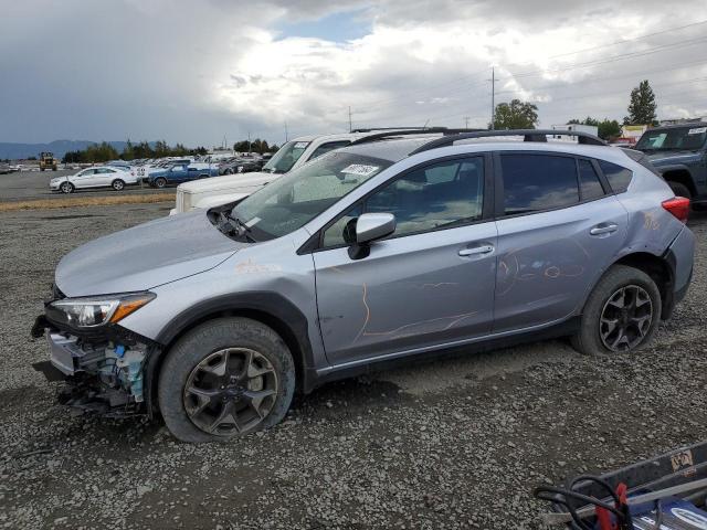
M 192 371 L 209 356 L 228 348 L 243 348 L 264 357 L 277 377 L 277 392 L 260 423 L 240 433 L 210 434 L 187 413 L 184 386 Z M 264 324 L 249 318 L 210 320 L 184 335 L 168 352 L 158 381 L 159 409 L 169 431 L 182 442 L 228 442 L 279 423 L 295 391 L 295 364 L 282 338 Z M 217 403 L 217 406 L 219 403 Z

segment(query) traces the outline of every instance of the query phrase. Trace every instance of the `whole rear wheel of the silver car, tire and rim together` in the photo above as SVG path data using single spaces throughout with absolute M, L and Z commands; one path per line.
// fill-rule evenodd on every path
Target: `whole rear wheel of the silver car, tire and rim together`
M 616 265 L 589 296 L 572 346 L 587 354 L 636 351 L 655 335 L 661 307 L 661 292 L 651 276 Z

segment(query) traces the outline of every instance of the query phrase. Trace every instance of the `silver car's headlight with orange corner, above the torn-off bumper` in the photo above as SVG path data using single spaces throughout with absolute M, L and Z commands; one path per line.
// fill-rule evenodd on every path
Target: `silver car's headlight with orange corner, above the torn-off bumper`
M 154 293 L 107 297 L 64 298 L 46 306 L 46 317 L 73 328 L 95 328 L 116 324 L 150 300 Z

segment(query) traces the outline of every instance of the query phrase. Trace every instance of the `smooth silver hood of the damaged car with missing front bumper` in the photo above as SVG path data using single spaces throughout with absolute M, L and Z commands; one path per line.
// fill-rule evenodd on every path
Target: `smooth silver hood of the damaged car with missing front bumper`
M 80 246 L 59 263 L 55 282 L 71 297 L 145 290 L 213 268 L 246 245 L 223 235 L 198 210 Z

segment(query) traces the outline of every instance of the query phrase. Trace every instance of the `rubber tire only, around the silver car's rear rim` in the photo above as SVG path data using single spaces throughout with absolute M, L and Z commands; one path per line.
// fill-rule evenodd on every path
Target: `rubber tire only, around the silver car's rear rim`
M 620 289 L 635 286 L 650 297 L 652 320 L 640 341 L 625 350 L 614 351 L 602 341 L 600 320 L 608 305 Z M 661 292 L 647 274 L 625 265 L 614 265 L 599 280 L 592 290 L 581 317 L 580 329 L 571 337 L 572 347 L 584 354 L 621 354 L 637 351 L 651 342 L 661 321 Z

